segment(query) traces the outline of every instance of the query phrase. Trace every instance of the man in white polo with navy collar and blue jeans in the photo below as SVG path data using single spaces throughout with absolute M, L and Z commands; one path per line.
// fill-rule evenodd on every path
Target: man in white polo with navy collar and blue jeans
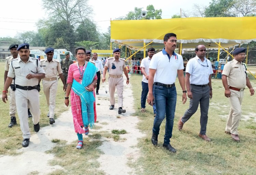
M 183 74 L 183 58 L 181 55 L 174 52 L 176 48 L 177 38 L 174 33 L 167 33 L 163 38 L 165 48 L 155 54 L 150 62 L 150 72 L 148 78 L 148 104 L 153 104 L 155 99 L 156 117 L 153 125 L 152 144 L 157 145 L 157 137 L 160 130 L 160 125 L 166 116 L 165 138 L 163 147 L 171 152 L 176 150 L 170 144 L 172 137 L 173 119 L 176 107 L 176 87 L 175 80 L 178 74 L 179 82 L 183 90 L 183 104 L 187 100 L 185 79 Z M 154 87 L 153 87 L 154 82 Z M 154 90 L 154 97 L 153 97 Z

